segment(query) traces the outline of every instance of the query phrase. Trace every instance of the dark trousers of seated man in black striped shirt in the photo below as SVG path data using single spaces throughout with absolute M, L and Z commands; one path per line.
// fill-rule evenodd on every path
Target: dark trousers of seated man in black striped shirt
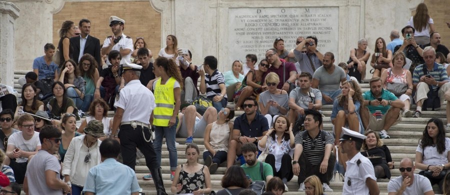
M 323 160 L 323 156 L 321 158 Z M 321 162 L 320 160 L 320 162 Z M 311 175 L 316 175 L 319 177 L 320 182 L 329 184 L 329 180 L 333 177 L 334 164 L 336 163 L 336 156 L 331 151 L 328 158 L 328 167 L 326 168 L 325 174 L 320 173 L 320 163 L 317 165 L 312 165 L 309 163 L 307 156 L 304 152 L 301 152 L 300 158 L 298 159 L 300 164 L 300 174 L 298 175 L 298 184 L 302 183 L 306 177 Z

